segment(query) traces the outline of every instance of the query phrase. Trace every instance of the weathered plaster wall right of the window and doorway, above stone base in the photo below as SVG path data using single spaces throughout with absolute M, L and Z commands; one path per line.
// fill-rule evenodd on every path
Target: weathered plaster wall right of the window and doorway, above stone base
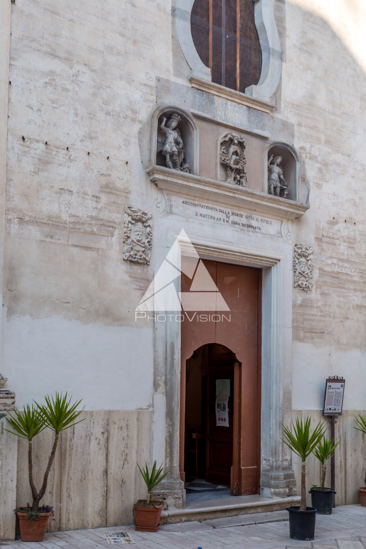
M 343 3 L 342 25 L 334 25 L 340 4 L 286 4 L 281 114 L 295 121 L 310 187 L 297 242 L 314 249 L 314 289 L 293 290 L 295 409 L 322 407 L 334 374 L 347 379 L 346 409 L 362 409 L 366 395 L 364 50 L 354 57 L 365 12 Z

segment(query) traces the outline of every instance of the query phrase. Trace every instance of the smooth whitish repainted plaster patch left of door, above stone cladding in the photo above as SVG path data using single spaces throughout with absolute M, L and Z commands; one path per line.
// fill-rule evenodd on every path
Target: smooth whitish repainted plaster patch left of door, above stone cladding
M 14 316 L 5 325 L 4 354 L 16 372 L 12 389 L 17 406 L 42 401 L 58 390 L 82 399 L 86 410 L 150 409 L 151 332 L 56 315 Z M 134 339 L 143 344 L 131 345 Z

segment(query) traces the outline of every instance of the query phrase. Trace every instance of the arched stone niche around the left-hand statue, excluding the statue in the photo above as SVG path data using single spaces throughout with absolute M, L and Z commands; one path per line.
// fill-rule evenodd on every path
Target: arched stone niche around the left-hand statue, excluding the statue
M 174 107 L 174 105 L 162 105 L 153 114 L 151 121 L 150 166 L 167 167 L 165 156 L 159 150 L 162 143 L 157 140 L 161 138 L 160 126 L 164 117 L 166 118 L 165 125 L 167 125 L 173 114 L 177 114 L 180 119 L 177 130 L 184 144 L 184 164 L 188 164 L 189 173 L 196 175 L 199 166 L 198 128 L 193 116 L 188 111 Z

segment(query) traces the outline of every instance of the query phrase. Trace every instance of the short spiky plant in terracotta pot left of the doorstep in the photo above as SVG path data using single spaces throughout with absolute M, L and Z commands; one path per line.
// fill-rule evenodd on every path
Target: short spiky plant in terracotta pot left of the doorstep
M 142 530 L 145 532 L 156 532 L 160 526 L 160 515 L 162 506 L 164 505 L 164 501 L 151 500 L 150 492 L 154 488 L 154 486 L 161 483 L 161 481 L 166 477 L 169 471 L 162 475 L 162 464 L 159 469 L 156 469 L 156 460 L 154 461 L 151 473 L 149 473 L 149 468 L 146 462 L 144 469 L 141 469 L 139 464 L 137 464 L 137 467 L 139 468 L 140 473 L 142 474 L 142 478 L 147 485 L 148 494 L 145 500 L 138 500 L 133 506 L 136 517 L 135 528 L 136 530 Z

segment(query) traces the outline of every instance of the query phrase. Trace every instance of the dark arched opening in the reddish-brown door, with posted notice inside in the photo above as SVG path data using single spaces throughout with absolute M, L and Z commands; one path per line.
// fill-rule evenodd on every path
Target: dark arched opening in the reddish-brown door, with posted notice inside
M 230 488 L 233 467 L 234 366 L 223 345 L 195 350 L 185 366 L 186 478 Z

